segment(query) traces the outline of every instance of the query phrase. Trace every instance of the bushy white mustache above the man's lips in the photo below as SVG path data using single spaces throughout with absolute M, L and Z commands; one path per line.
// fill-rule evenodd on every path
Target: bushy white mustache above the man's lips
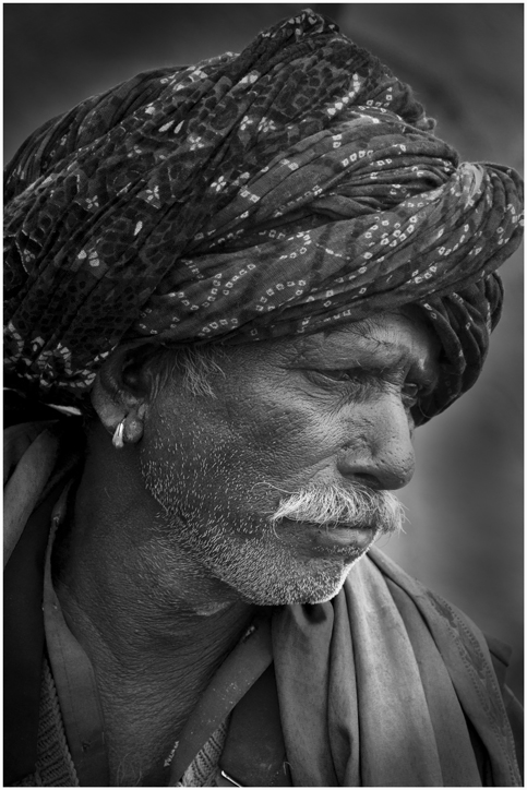
M 400 530 L 406 516 L 403 504 L 390 491 L 374 491 L 359 483 L 349 488 L 325 483 L 283 499 L 271 522 L 276 524 L 282 518 L 330 527 L 370 527 L 387 534 Z

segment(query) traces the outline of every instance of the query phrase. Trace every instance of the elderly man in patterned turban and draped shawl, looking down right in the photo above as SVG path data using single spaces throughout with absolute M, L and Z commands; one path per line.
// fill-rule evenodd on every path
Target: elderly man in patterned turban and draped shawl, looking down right
M 84 419 L 8 431 L 9 783 L 520 785 L 500 646 L 371 549 L 520 236 L 433 125 L 306 11 L 10 164 L 8 383 Z

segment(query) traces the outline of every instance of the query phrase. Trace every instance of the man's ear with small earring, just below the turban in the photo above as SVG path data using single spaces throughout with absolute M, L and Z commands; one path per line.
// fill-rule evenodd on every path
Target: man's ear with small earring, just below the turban
M 92 388 L 92 405 L 108 433 L 120 431 L 127 442 L 143 435 L 143 422 L 151 397 L 149 378 L 136 364 L 136 346 L 118 346 L 99 369 Z

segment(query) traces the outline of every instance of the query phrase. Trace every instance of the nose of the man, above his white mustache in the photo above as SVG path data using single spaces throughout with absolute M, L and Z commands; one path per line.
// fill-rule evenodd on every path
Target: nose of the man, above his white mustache
M 399 397 L 382 396 L 374 405 L 355 408 L 350 441 L 337 458 L 344 477 L 374 489 L 398 489 L 415 471 L 411 423 Z M 359 419 L 357 419 L 359 418 Z

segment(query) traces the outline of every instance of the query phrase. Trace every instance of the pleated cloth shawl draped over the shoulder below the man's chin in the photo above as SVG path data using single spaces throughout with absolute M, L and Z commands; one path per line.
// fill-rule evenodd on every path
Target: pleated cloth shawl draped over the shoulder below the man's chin
M 295 786 L 522 785 L 483 634 L 376 549 L 275 615 L 273 654 Z

